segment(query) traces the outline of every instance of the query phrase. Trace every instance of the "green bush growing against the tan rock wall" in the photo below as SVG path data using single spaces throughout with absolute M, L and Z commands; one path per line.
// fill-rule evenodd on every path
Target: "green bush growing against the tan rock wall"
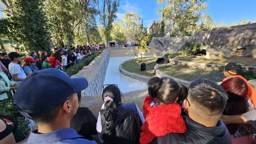
M 191 39 L 186 41 L 185 44 L 182 46 L 182 55 L 189 56 L 189 55 L 197 55 L 197 50 L 202 50 L 206 44 L 204 42 L 199 42 L 196 39 Z

